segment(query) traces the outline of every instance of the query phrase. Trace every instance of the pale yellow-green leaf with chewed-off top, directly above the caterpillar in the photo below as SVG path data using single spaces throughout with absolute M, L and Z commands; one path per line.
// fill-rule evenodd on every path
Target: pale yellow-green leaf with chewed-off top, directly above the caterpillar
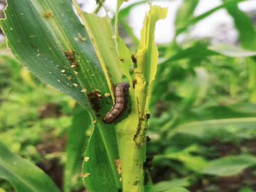
M 83 12 L 75 1 L 73 3 L 90 36 L 113 97 L 113 83 L 121 81 L 121 70 L 110 19 Z

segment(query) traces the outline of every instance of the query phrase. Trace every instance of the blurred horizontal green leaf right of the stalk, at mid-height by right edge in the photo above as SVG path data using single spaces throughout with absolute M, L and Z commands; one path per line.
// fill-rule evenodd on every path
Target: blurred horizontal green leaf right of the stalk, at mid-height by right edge
M 184 109 L 177 117 L 165 123 L 161 127 L 161 131 L 169 130 L 170 136 L 176 132 L 184 132 L 202 137 L 207 129 L 217 131 L 225 127 L 253 128 L 254 123 L 250 117 L 254 118 L 256 113 L 256 105 L 252 103 L 238 103 L 233 105 L 208 103 L 192 109 Z M 247 121 L 249 124 L 246 124 Z

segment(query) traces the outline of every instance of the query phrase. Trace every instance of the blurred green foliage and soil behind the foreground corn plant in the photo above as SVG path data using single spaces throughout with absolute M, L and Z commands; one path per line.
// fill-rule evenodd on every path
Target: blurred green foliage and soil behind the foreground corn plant
M 151 140 L 146 149 L 147 156 L 154 156 L 149 169 L 154 190 L 255 191 L 255 25 L 239 10 L 240 1 L 223 1 L 194 17 L 198 2 L 181 4 L 176 37 L 189 34 L 191 26 L 226 9 L 239 33 L 238 44 L 175 38 L 158 45 L 160 59 L 149 108 Z M 138 5 L 119 12 L 121 34 L 135 45 L 139 41 L 125 19 Z M 136 52 L 133 46 L 131 52 Z M 84 190 L 79 167 L 92 127 L 81 117 L 90 118 L 88 114 L 73 99 L 21 68 L 4 42 L 0 68 L 0 140 L 12 153 L 44 170 L 61 190 Z M 81 140 L 69 142 L 77 138 L 72 133 L 82 135 Z M 72 147 L 80 150 L 74 154 Z M 11 153 L 5 147 L 0 150 Z M 0 181 L 0 187 L 0 191 L 13 188 L 6 180 Z

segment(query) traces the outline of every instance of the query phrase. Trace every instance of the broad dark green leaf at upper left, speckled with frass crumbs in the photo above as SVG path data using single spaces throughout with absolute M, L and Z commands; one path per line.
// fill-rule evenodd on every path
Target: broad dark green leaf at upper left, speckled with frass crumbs
M 12 53 L 42 81 L 90 108 L 81 91 L 102 90 L 94 82 L 104 82 L 104 77 L 70 2 L 22 0 L 7 4 L 7 18 L 0 24 Z

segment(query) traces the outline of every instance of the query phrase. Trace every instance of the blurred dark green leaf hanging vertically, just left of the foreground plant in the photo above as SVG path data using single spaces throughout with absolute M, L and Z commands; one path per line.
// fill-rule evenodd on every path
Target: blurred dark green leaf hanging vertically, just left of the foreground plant
M 72 125 L 69 127 L 69 135 L 67 142 L 67 161 L 65 166 L 64 189 L 71 191 L 79 179 L 81 179 L 81 162 L 83 160 L 83 152 L 86 147 L 87 136 L 86 131 L 91 127 L 90 114 L 76 106 Z

